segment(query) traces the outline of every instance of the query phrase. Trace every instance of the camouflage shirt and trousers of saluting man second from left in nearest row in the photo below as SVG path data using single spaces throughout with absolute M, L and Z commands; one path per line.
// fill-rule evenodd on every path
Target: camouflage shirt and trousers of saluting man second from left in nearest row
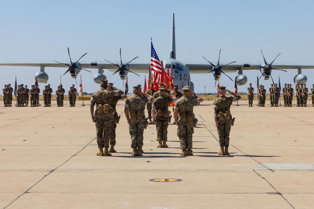
M 133 97 L 127 98 L 125 101 L 125 107 L 129 108 L 131 112 L 143 112 L 145 111 L 145 104 L 150 103 L 150 99 L 142 97 L 141 95 L 134 95 Z M 146 123 L 145 114 L 142 119 L 132 121 L 130 119 L 129 133 L 131 135 L 131 148 L 143 147 L 143 133 Z

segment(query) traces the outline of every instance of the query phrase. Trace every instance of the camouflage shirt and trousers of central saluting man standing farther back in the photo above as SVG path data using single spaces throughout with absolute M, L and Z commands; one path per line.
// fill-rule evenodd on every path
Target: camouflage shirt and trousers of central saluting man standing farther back
M 175 98 L 170 98 L 168 96 L 159 96 L 157 97 L 152 107 L 155 108 L 155 119 L 156 119 L 156 130 L 157 130 L 157 139 L 159 141 L 167 141 L 167 133 L 168 133 L 168 123 L 169 123 L 169 110 L 168 107 L 170 105 L 170 102 L 174 102 Z M 158 111 L 161 111 L 164 116 L 158 116 Z

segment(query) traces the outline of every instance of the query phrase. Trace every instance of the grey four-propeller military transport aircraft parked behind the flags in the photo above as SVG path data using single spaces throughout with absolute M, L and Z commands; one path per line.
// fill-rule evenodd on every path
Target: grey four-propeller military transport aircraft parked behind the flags
M 220 51 L 219 51 L 219 58 L 217 64 L 213 64 L 209 62 L 205 57 L 203 57 L 207 62 L 180 62 L 176 60 L 176 41 L 175 41 L 175 18 L 174 13 L 172 14 L 172 25 L 171 25 L 171 44 L 170 44 L 170 57 L 169 59 L 163 59 L 164 67 L 172 65 L 173 67 L 173 83 L 174 85 L 179 86 L 181 89 L 183 86 L 187 85 L 187 80 L 189 79 L 189 84 L 193 91 L 194 84 L 191 82 L 190 73 L 195 74 L 206 74 L 212 72 L 214 79 L 217 81 L 221 74 L 229 73 L 229 72 L 236 72 L 238 71 L 238 76 L 236 76 L 236 83 L 237 85 L 241 86 L 246 84 L 247 77 L 243 74 L 243 70 L 260 70 L 261 77 L 264 77 L 264 80 L 268 80 L 271 77 L 272 70 L 283 70 L 283 69 L 298 69 L 298 75 L 295 76 L 294 79 L 297 80 L 297 83 L 306 83 L 307 77 L 304 74 L 301 74 L 301 70 L 303 69 L 314 69 L 314 65 L 298 65 L 298 64 L 273 64 L 275 60 L 273 60 L 270 64 L 268 64 L 264 58 L 264 63 L 219 63 L 220 59 Z M 68 49 L 68 53 L 70 56 L 70 52 Z M 86 55 L 86 54 L 84 54 Z M 83 55 L 83 56 L 84 56 Z M 82 57 L 83 57 L 82 56 Z M 82 58 L 81 57 L 81 58 Z M 278 57 L 278 56 L 277 56 Z M 276 58 L 277 58 L 276 57 Z M 81 59 L 80 58 L 80 59 Z M 135 57 L 134 59 L 136 59 Z M 120 61 L 116 62 L 109 62 L 109 61 L 101 61 L 101 62 L 72 62 L 70 57 L 70 63 L 61 63 L 61 62 L 34 62 L 34 63 L 18 63 L 18 62 L 11 62 L 11 63 L 0 63 L 4 66 L 35 66 L 40 67 L 40 72 L 37 72 L 35 76 L 37 77 L 37 81 L 40 83 L 46 83 L 48 81 L 48 74 L 45 72 L 45 67 L 68 67 L 68 70 L 64 73 L 70 72 L 71 76 L 76 79 L 78 73 L 81 70 L 85 70 L 83 68 L 91 68 L 91 69 L 98 69 L 98 73 L 94 75 L 94 81 L 100 84 L 100 80 L 103 80 L 104 77 L 104 70 L 109 69 L 110 72 L 117 73 L 119 72 L 119 76 L 122 80 L 124 80 L 127 76 L 128 72 L 131 73 L 148 73 L 150 62 L 122 62 L 121 58 L 121 49 L 120 49 Z M 209 63 L 208 63 L 209 62 Z M 284 70 L 283 70 L 284 71 Z M 89 71 L 90 72 L 90 71 Z M 112 74 L 113 75 L 113 74 Z M 226 75 L 226 74 L 225 74 Z M 227 75 L 226 75 L 227 76 Z M 229 77 L 229 76 L 228 76 Z M 230 78 L 230 77 L 229 77 Z M 230 78 L 231 79 L 231 78 Z M 231 79 L 232 80 L 232 79 Z

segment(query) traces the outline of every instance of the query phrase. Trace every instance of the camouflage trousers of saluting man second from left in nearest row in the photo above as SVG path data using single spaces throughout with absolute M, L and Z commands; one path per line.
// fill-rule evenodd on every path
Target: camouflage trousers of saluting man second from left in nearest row
M 140 120 L 131 121 L 129 124 L 129 133 L 131 135 L 131 148 L 143 147 L 143 133 L 144 133 L 145 123 Z

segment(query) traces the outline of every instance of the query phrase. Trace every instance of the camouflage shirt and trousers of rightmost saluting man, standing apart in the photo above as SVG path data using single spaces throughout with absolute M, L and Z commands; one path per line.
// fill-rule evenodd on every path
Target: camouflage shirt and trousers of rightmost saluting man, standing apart
M 232 102 L 236 102 L 236 97 L 222 97 L 220 96 L 219 99 L 214 101 L 214 108 L 217 108 L 218 113 L 219 112 L 229 112 L 230 113 L 230 107 L 232 105 Z M 224 108 L 225 105 L 225 108 Z M 231 119 L 232 116 L 230 114 L 230 119 L 221 121 L 218 118 L 218 135 L 219 135 L 219 144 L 220 147 L 229 147 L 229 135 L 231 130 Z

